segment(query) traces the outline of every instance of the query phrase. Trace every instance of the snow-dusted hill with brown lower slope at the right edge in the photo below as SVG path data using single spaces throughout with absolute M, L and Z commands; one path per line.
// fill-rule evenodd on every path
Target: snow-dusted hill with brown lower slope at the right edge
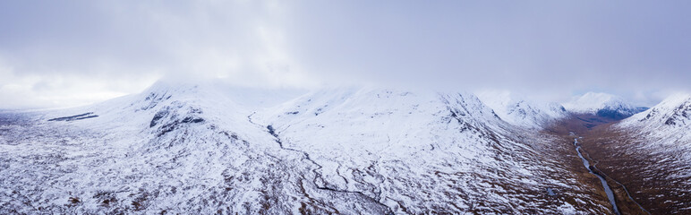
M 626 175 L 644 206 L 661 214 L 691 212 L 691 95 L 670 96 L 655 107 L 613 127 L 627 140 L 606 142 L 624 166 L 612 166 Z

